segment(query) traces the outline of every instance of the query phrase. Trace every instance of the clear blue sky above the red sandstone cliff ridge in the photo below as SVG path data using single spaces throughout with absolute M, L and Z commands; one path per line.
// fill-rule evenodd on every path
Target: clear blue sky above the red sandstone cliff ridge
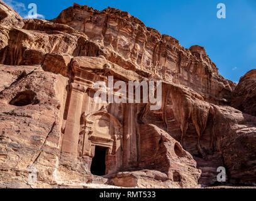
M 25 17 L 28 4 L 40 17 L 53 19 L 75 2 L 102 10 L 111 6 L 128 11 L 146 26 L 159 30 L 189 48 L 204 46 L 221 75 L 233 82 L 256 68 L 256 0 L 4 0 Z M 226 5 L 226 19 L 218 19 L 217 4 Z

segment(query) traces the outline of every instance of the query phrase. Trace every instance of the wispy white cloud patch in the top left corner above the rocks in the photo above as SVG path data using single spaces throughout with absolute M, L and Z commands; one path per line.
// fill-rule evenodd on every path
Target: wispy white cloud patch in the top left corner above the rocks
M 19 15 L 22 18 L 25 19 L 45 19 L 45 16 L 43 14 L 36 14 L 35 16 L 29 16 L 28 15 L 28 9 L 26 8 L 25 4 L 18 2 L 18 1 L 13 1 L 13 0 L 2 0 L 4 3 L 8 4 L 14 11 L 19 13 Z

